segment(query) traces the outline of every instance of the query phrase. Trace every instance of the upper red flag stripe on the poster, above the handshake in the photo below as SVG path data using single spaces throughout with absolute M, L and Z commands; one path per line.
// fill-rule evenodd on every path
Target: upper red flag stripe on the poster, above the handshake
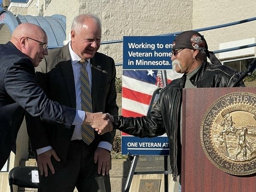
M 122 88 L 122 97 L 149 105 L 152 96 L 148 95 L 148 94 L 141 93 L 141 92 L 136 92 L 131 89 L 123 87 Z

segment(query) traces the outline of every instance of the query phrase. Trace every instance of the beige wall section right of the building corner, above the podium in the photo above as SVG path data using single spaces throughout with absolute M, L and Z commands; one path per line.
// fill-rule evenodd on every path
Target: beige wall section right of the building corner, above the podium
M 193 0 L 192 29 L 232 23 L 256 17 L 255 10 L 255 0 L 244 0 L 242 2 L 240 0 Z M 243 41 L 249 38 L 253 38 L 253 40 L 250 40 L 250 44 L 255 43 L 255 29 L 256 21 L 251 21 L 200 33 L 203 34 L 207 40 L 209 50 L 215 51 L 221 49 L 221 43 L 226 43 L 228 45 L 228 42 L 238 40 Z M 230 46 L 231 44 L 232 43 L 230 43 Z M 255 47 L 252 49 L 253 55 L 250 51 L 247 53 L 255 57 Z M 247 53 L 245 52 L 243 55 L 246 55 Z M 239 52 L 237 54 L 239 54 Z M 219 57 L 218 54 L 216 55 Z

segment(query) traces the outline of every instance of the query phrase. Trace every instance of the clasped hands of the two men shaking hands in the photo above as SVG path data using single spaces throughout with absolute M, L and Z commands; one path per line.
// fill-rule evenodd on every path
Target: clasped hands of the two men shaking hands
M 113 130 L 113 116 L 109 113 L 102 112 L 90 113 L 86 112 L 83 124 L 90 125 L 99 135 Z

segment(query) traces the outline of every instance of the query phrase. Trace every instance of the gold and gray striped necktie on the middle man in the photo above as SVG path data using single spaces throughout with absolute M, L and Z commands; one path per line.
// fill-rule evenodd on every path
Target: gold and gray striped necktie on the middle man
M 81 80 L 81 108 L 85 112 L 93 112 L 92 97 L 90 91 L 90 83 L 88 73 L 86 71 L 87 60 L 81 59 L 80 80 Z M 82 140 L 87 144 L 94 139 L 94 129 L 90 125 L 82 125 Z

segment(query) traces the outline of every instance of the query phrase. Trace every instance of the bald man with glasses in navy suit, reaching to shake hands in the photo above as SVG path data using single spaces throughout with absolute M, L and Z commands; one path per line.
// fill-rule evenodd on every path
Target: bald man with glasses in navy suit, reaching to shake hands
M 34 67 L 48 54 L 47 42 L 41 27 L 22 23 L 12 33 L 11 40 L 0 45 L 0 169 L 15 146 L 25 110 L 34 117 L 65 128 L 83 121 L 94 122 L 91 124 L 94 128 L 102 124 L 101 115 L 96 120 L 97 116 L 92 113 L 85 114 L 49 100 L 38 86 Z M 58 160 L 55 154 L 52 155 Z

